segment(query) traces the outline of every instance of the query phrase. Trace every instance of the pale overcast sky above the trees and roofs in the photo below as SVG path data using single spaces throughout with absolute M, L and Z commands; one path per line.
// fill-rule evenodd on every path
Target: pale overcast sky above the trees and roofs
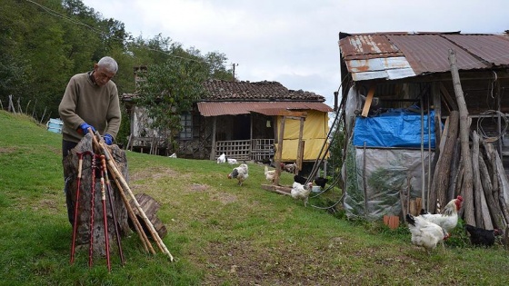
M 504 33 L 507 0 L 82 0 L 143 38 L 226 55 L 241 81 L 276 81 L 334 106 L 339 32 Z M 508 51 L 509 53 L 509 51 Z

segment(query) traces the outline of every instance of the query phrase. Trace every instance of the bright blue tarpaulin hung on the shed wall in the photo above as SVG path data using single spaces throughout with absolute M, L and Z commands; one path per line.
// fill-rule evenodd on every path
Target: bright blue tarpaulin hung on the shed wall
M 428 136 L 428 116 L 431 136 Z M 424 146 L 428 146 L 431 138 L 431 148 L 434 148 L 434 111 L 424 114 L 423 125 Z M 366 147 L 421 147 L 421 113 L 391 109 L 374 117 L 358 116 L 354 126 L 354 145 L 364 146 L 364 143 Z

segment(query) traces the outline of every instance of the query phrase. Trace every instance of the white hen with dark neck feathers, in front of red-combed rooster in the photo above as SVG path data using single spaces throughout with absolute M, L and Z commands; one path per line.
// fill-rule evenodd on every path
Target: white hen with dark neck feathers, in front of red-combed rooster
M 408 229 L 412 233 L 412 243 L 422 246 L 426 253 L 430 254 L 436 248 L 438 242 L 444 242 L 449 238 L 449 234 L 438 224 L 424 220 L 422 216 L 413 216 L 406 214 Z

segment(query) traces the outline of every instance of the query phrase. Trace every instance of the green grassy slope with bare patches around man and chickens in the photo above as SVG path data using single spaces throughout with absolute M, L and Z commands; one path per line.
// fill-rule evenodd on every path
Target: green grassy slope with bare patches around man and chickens
M 170 262 L 123 239 L 125 267 L 112 253 L 88 268 L 69 265 L 61 135 L 0 111 L 0 285 L 504 285 L 500 246 L 469 246 L 463 232 L 431 255 L 410 244 L 404 226 L 349 222 L 289 196 L 264 191 L 262 166 L 249 164 L 238 187 L 228 164 L 127 153 L 129 185 L 161 203 Z M 282 183 L 292 176 L 284 173 Z M 337 193 L 334 193 L 337 192 Z M 340 196 L 328 193 L 328 202 Z M 328 203 L 313 198 L 314 205 Z

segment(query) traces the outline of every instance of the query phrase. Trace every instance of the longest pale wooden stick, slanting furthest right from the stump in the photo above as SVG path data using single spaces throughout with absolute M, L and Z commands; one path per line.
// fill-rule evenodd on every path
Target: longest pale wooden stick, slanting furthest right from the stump
M 97 135 L 97 136 L 99 136 L 99 138 L 101 138 L 100 135 Z M 96 139 L 95 139 L 95 141 L 96 141 Z M 161 251 L 163 251 L 164 253 L 168 254 L 168 256 L 170 257 L 170 261 L 174 261 L 174 257 L 172 256 L 170 251 L 168 251 L 168 249 L 166 248 L 165 243 L 163 242 L 163 240 L 161 240 L 161 237 L 159 237 L 159 234 L 155 231 L 154 225 L 146 217 L 144 210 L 142 209 L 142 207 L 136 200 L 133 192 L 131 192 L 131 188 L 129 188 L 129 185 L 127 184 L 127 182 L 125 182 L 124 176 L 116 168 L 115 163 L 111 159 L 111 154 L 109 153 L 108 149 L 105 147 L 105 143 L 103 143 L 101 141 L 99 143 L 99 146 L 101 147 L 101 150 L 103 151 L 103 153 L 106 156 L 106 163 L 108 163 L 110 172 L 112 172 L 115 175 L 116 179 L 118 179 L 118 182 L 120 182 L 120 185 L 118 185 L 119 189 L 122 189 L 124 192 L 127 192 L 127 194 L 129 194 L 129 196 L 131 197 L 131 200 L 135 203 L 136 210 L 142 216 L 142 219 L 144 220 L 146 227 L 148 228 L 149 232 L 152 234 L 152 237 L 154 238 L 155 243 L 157 244 L 159 249 Z M 115 180 L 115 182 L 117 182 L 117 180 Z

